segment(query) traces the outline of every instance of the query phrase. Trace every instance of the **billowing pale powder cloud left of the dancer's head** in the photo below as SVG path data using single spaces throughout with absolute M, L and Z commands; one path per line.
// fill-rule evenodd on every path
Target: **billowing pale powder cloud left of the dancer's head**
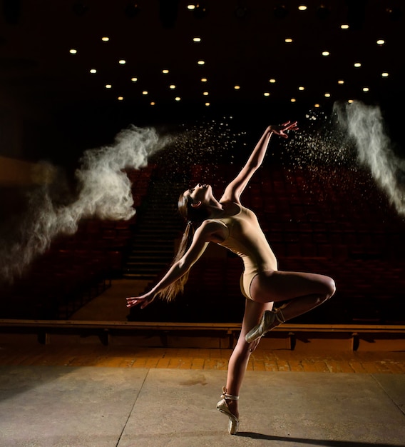
M 76 171 L 78 194 L 70 204 L 58 204 L 57 186 L 46 181 L 29 195 L 26 218 L 13 238 L 0 241 L 0 278 L 11 282 L 51 245 L 61 233 L 77 231 L 81 219 L 130 219 L 135 214 L 128 176 L 123 169 L 140 169 L 148 157 L 163 149 L 168 137 L 154 129 L 131 126 L 117 136 L 113 144 L 89 149 Z M 47 172 L 56 171 L 48 166 Z

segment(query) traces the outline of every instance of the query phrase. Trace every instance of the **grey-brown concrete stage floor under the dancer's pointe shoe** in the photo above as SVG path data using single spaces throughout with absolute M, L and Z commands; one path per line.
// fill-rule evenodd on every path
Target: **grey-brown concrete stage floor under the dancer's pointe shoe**
M 226 371 L 0 366 L 0 446 L 405 446 L 405 375 L 247 371 L 240 433 Z

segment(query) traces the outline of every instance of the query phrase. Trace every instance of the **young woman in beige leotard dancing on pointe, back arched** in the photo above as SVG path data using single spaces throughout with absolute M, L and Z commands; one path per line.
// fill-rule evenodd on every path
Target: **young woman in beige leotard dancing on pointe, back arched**
M 229 418 L 229 433 L 237 433 L 237 400 L 250 354 L 260 338 L 280 323 L 319 306 L 335 291 L 332 278 L 315 273 L 277 270 L 277 259 L 270 248 L 255 214 L 240 203 L 252 175 L 260 167 L 273 134 L 287 138 L 286 131 L 297 129 L 296 122 L 268 126 L 242 171 L 225 189 L 218 201 L 210 185 L 198 184 L 180 195 L 180 214 L 188 221 L 180 248 L 163 278 L 142 296 L 127 298 L 127 306 L 148 306 L 156 296 L 168 301 L 183 291 L 188 271 L 200 258 L 208 243 L 219 243 L 237 253 L 244 263 L 240 280 L 246 298 L 242 330 L 222 388 L 217 409 Z M 197 228 L 194 231 L 194 228 Z M 277 303 L 282 306 L 277 308 Z M 275 308 L 273 304 L 275 303 Z

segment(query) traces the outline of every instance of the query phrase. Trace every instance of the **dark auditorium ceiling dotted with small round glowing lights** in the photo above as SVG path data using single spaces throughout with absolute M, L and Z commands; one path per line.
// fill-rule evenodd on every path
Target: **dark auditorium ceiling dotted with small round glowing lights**
M 294 114 L 349 99 L 390 107 L 404 99 L 404 6 L 400 0 L 3 0 L 0 94 L 31 110 L 65 109 L 64 119 L 89 121 L 101 109 L 125 121 L 130 114 L 170 119 L 178 111 Z

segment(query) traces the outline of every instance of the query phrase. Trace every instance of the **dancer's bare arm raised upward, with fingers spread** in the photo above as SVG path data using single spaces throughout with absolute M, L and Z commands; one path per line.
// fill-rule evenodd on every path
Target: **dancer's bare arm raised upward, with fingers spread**
M 262 134 L 260 140 L 257 141 L 255 149 L 253 149 L 252 154 L 250 154 L 250 157 L 247 160 L 245 166 L 243 166 L 240 173 L 237 174 L 235 179 L 233 179 L 226 187 L 225 192 L 220 199 L 220 202 L 232 201 L 239 203 L 240 195 L 245 190 L 247 184 L 252 178 L 252 175 L 255 174 L 255 171 L 257 171 L 257 169 L 261 166 L 262 161 L 265 158 L 267 146 L 270 143 L 272 134 L 287 138 L 288 136 L 285 133 L 286 131 L 294 131 L 297 129 L 297 121 L 287 121 L 281 126 L 268 126 L 265 132 Z

